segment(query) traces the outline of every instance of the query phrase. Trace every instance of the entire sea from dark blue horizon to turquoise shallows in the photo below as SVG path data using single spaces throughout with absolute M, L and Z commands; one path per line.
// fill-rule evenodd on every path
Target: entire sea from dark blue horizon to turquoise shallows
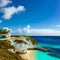
M 36 50 L 34 60 L 60 60 L 60 36 L 31 36 L 38 42 L 38 46 L 49 51 Z

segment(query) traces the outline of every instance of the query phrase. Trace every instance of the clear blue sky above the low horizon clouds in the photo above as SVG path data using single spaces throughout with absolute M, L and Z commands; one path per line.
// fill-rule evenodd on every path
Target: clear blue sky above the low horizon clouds
M 60 29 L 60 0 L 6 0 L 5 5 L 0 3 L 0 27 L 25 27 L 31 29 Z M 16 11 L 10 18 L 5 18 L 5 8 L 23 6 L 23 10 Z M 25 9 L 25 10 L 24 10 Z M 9 14 L 9 13 L 8 13 Z M 8 15 L 7 14 L 7 15 Z M 2 17 L 3 16 L 3 17 Z M 15 27 L 15 28 L 14 28 Z

